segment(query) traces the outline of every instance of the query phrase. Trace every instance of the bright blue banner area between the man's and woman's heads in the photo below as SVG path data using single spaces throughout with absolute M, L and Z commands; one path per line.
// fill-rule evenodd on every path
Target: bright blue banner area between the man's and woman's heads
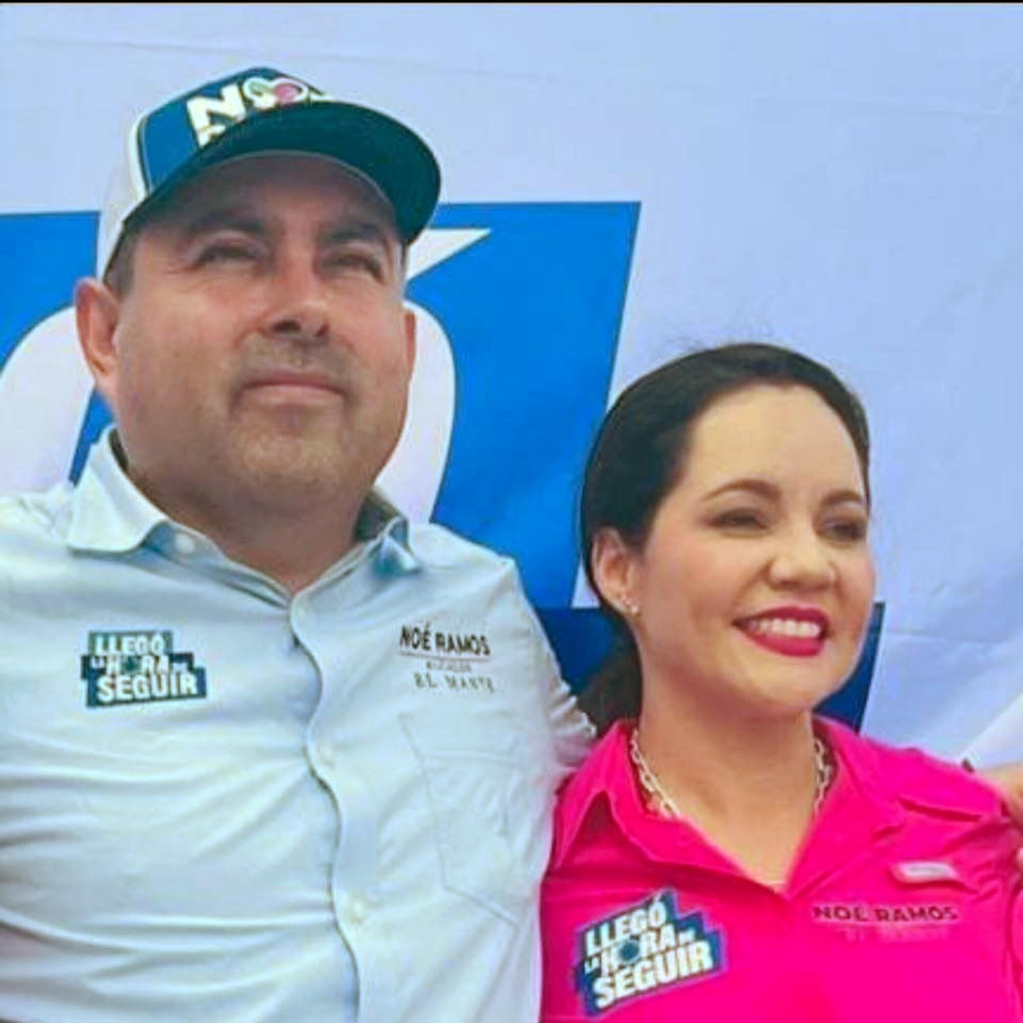
M 451 339 L 457 402 L 434 519 L 515 558 L 534 604 L 568 607 L 586 453 L 604 415 L 639 206 L 453 204 L 485 240 L 416 277 Z

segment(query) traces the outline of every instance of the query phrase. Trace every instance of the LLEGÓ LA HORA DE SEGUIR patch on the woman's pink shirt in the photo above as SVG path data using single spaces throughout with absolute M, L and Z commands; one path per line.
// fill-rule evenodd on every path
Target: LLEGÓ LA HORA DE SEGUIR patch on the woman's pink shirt
M 586 924 L 577 951 L 576 988 L 589 1016 L 724 970 L 721 932 L 700 909 L 681 916 L 671 890 Z

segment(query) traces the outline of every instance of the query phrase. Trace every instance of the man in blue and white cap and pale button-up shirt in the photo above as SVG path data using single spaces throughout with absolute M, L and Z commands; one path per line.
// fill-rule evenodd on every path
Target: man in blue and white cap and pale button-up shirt
M 536 1019 L 589 727 L 514 567 L 373 492 L 432 153 L 272 69 L 132 130 L 76 296 L 116 432 L 0 503 L 0 1018 Z

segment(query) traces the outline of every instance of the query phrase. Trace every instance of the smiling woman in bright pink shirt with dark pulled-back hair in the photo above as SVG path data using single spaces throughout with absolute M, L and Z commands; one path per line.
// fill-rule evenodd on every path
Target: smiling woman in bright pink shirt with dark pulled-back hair
M 582 538 L 626 657 L 559 803 L 545 1021 L 1023 1019 L 998 798 L 812 713 L 873 603 L 869 453 L 853 395 L 772 346 L 609 414 Z

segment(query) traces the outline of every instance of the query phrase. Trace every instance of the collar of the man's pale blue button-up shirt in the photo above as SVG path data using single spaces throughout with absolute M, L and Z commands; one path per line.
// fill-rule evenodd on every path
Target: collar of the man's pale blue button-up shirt
M 75 488 L 68 546 L 83 552 L 126 553 L 164 525 L 176 526 L 129 479 L 117 432 L 107 428 L 92 446 Z M 384 574 L 419 568 L 409 546 L 407 520 L 377 491 L 370 491 L 359 509 L 355 540 L 367 547 L 376 545 L 376 567 Z

